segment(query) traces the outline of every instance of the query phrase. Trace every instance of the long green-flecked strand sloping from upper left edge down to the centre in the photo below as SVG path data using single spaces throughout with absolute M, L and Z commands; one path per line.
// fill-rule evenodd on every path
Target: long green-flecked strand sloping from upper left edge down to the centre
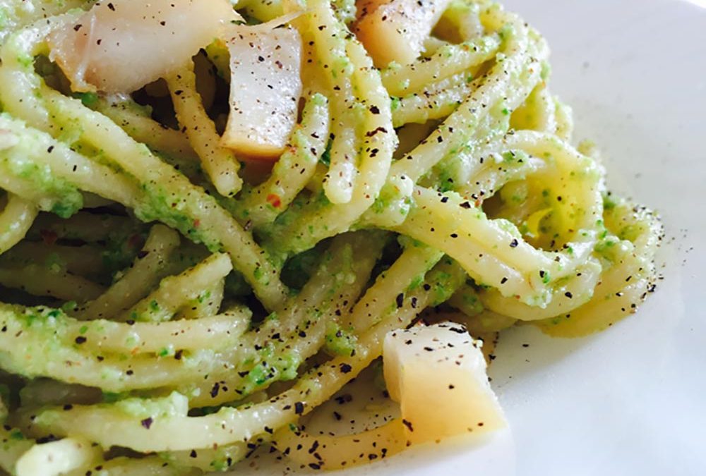
M 73 16 L 69 15 L 59 17 L 56 22 L 66 23 L 71 20 Z M 49 121 L 48 109 L 52 110 L 52 116 L 62 118 L 65 122 L 80 124 L 84 131 L 84 138 L 88 142 L 95 147 L 109 150 L 115 163 L 126 173 L 138 178 L 142 184 L 139 192 L 133 193 L 129 198 L 126 197 L 126 200 L 115 201 L 136 209 L 138 216 L 145 221 L 160 219 L 165 224 L 179 229 L 192 240 L 201 240 L 210 248 L 225 248 L 265 305 L 275 308 L 282 303 L 285 298 L 285 287 L 279 280 L 273 262 L 268 259 L 263 250 L 258 249 L 249 233 L 217 205 L 213 197 L 206 195 L 201 188 L 191 185 L 181 173 L 154 157 L 143 145 L 134 142 L 112 121 L 90 111 L 74 99 L 49 90 L 46 85 L 42 85 L 41 79 L 30 71 L 30 66 L 22 66 L 16 61 L 17 56 L 27 56 L 37 52 L 43 35 L 46 35 L 51 26 L 54 25 L 49 22 L 49 25 L 42 24 L 36 28 L 24 30 L 4 45 L 2 49 L 4 62 L 0 67 L 0 80 L 10 79 L 15 81 L 18 87 L 25 85 L 28 88 L 25 91 L 14 90 L 7 91 L 8 94 L 1 94 L 0 99 L 4 102 L 6 110 L 17 114 L 20 118 L 33 121 L 38 128 L 45 131 L 55 129 Z M 6 63 L 5 56 L 12 56 L 15 61 Z M 18 70 L 13 66 L 18 67 Z M 35 97 L 37 95 L 35 92 L 40 92 L 46 99 L 46 109 L 39 102 L 32 102 L 27 108 L 26 103 L 14 102 L 10 97 L 11 94 Z M 52 166 L 57 165 L 55 162 L 52 163 Z M 90 171 L 94 169 L 100 170 L 100 166 L 94 164 L 88 168 Z M 94 186 L 87 183 L 87 187 L 89 186 L 88 190 L 92 191 Z M 136 196 L 143 197 L 140 204 L 133 201 L 133 197 Z

